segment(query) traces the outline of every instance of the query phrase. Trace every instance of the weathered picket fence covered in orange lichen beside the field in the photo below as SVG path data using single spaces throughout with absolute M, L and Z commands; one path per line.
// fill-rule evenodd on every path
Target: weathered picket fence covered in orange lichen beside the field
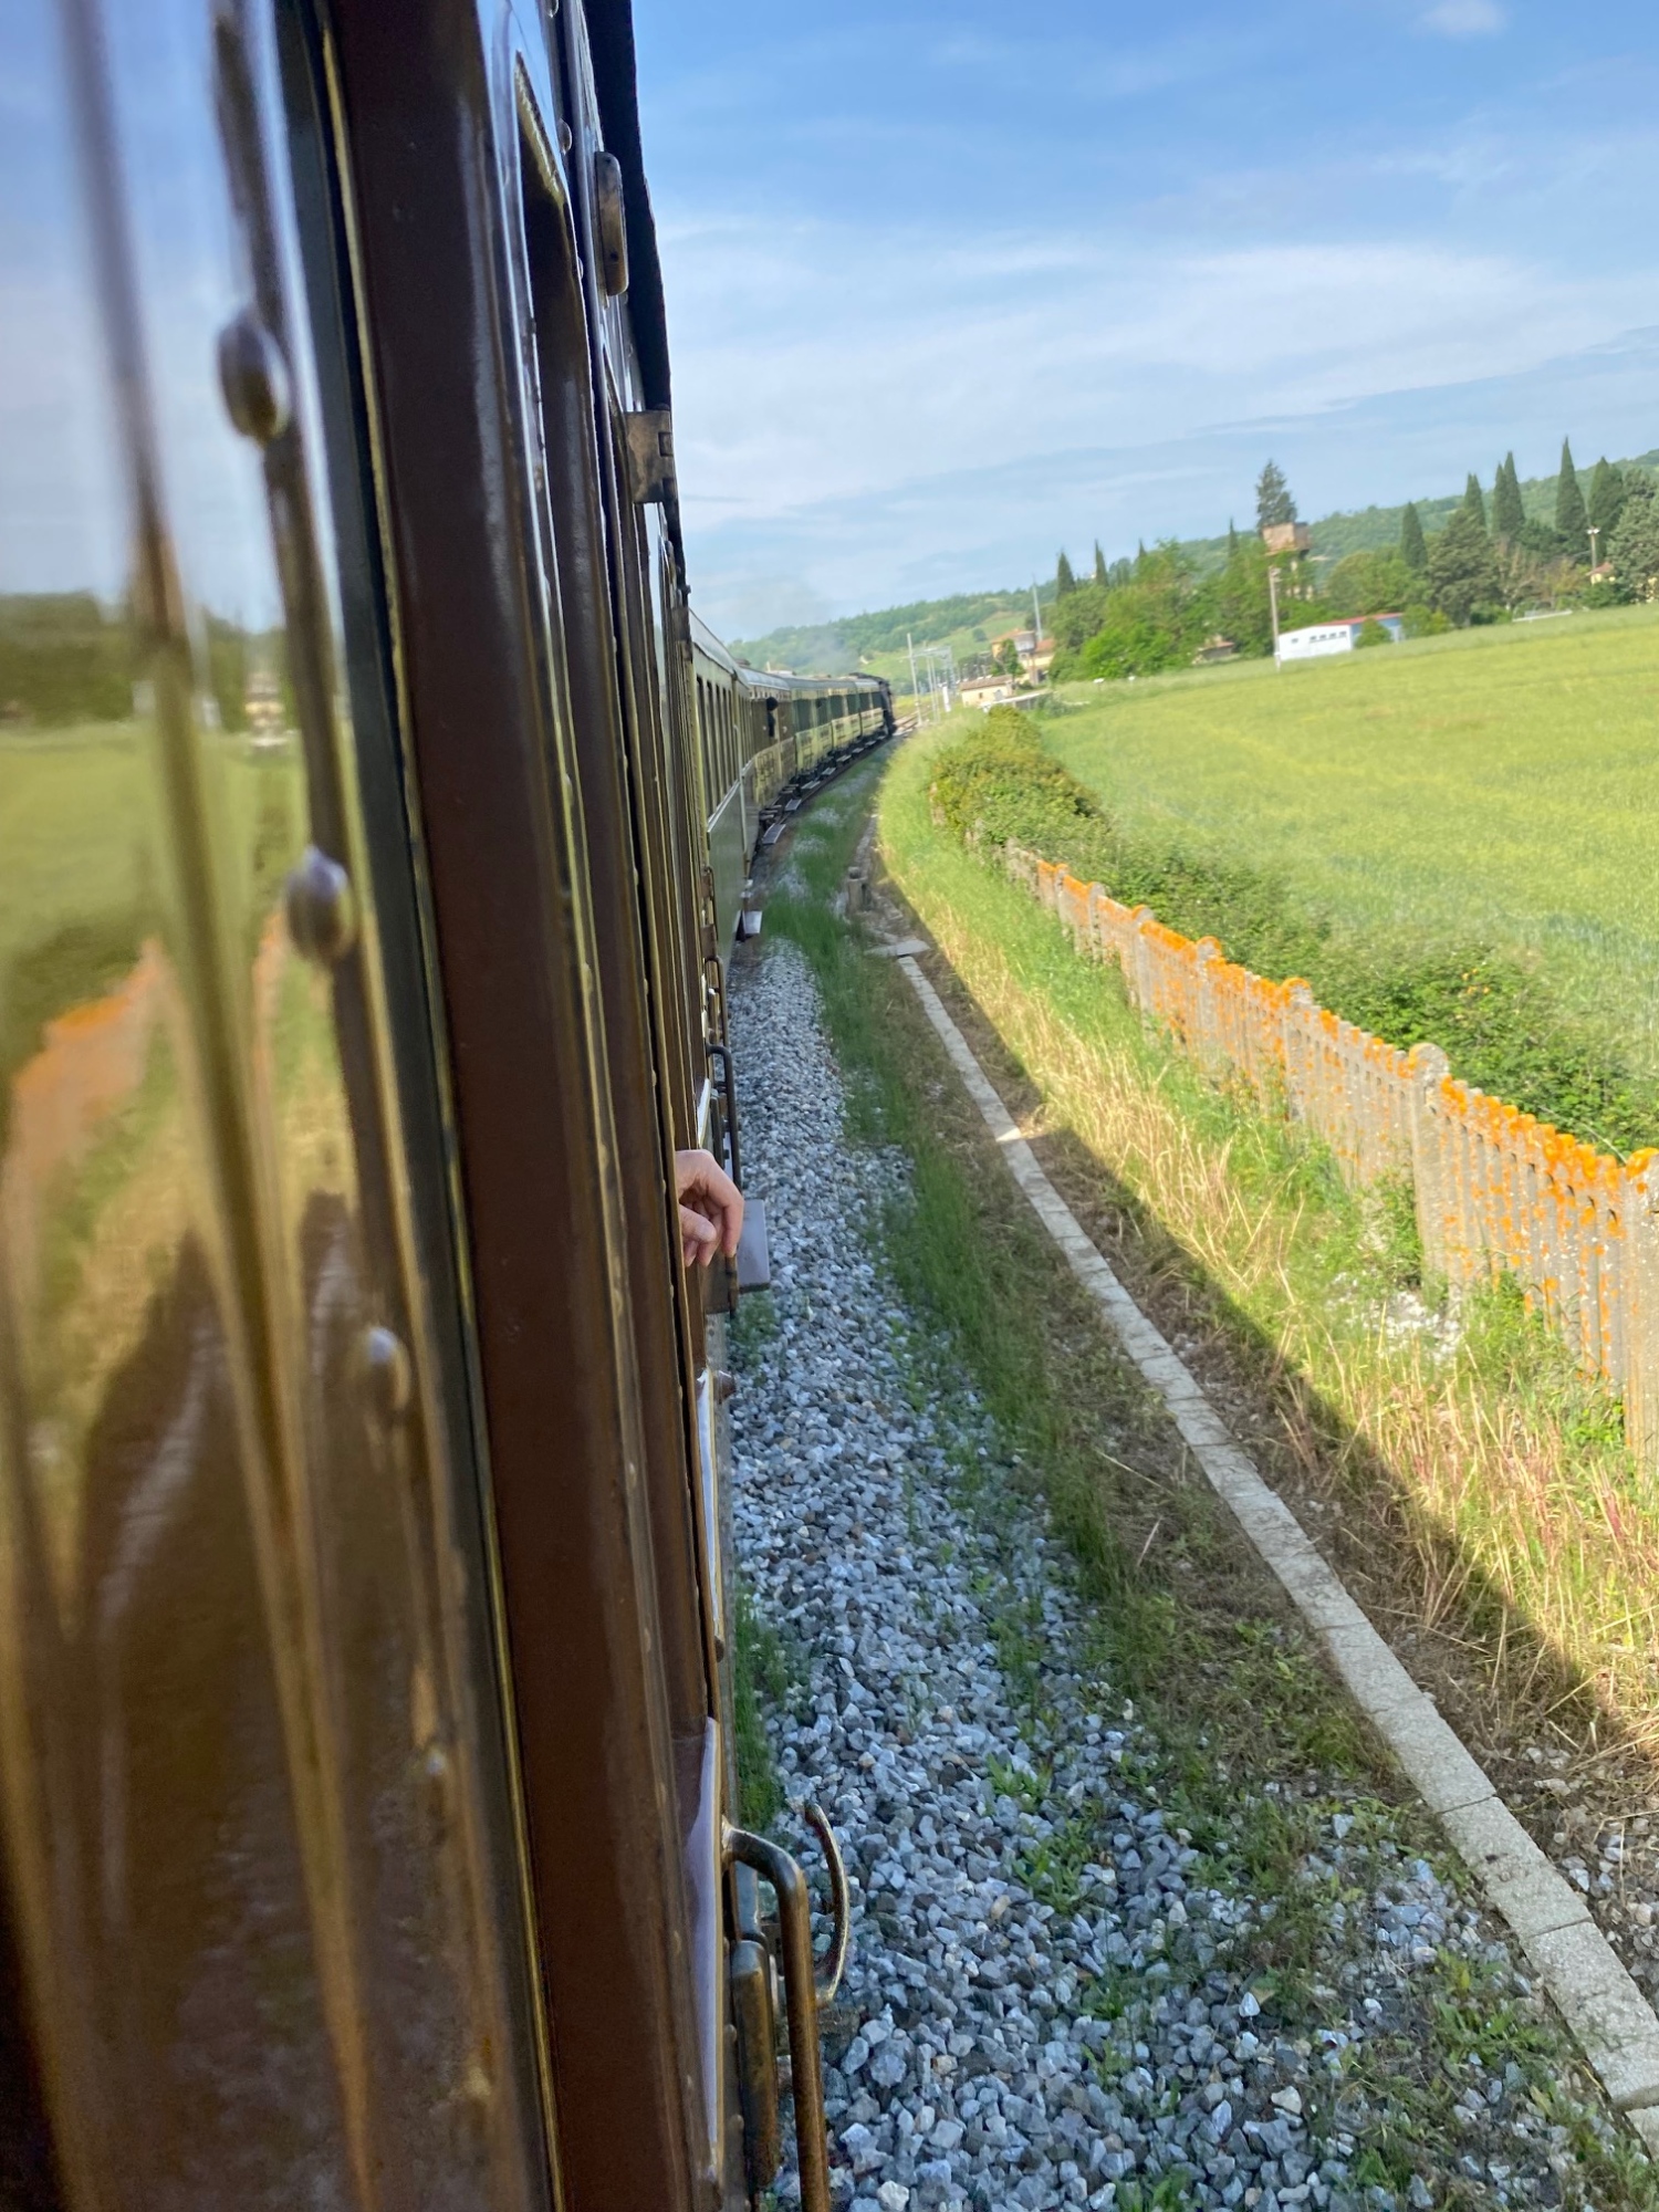
M 1440 1046 L 1398 1051 L 1298 978 L 1252 975 L 1214 938 L 1183 938 L 1020 845 L 1002 865 L 1217 1082 L 1301 1121 L 1356 1186 L 1409 1177 L 1425 1265 L 1453 1290 L 1513 1274 L 1621 1394 L 1637 1455 L 1659 1462 L 1659 1152 L 1626 1161 L 1564 1137 L 1458 1082 Z

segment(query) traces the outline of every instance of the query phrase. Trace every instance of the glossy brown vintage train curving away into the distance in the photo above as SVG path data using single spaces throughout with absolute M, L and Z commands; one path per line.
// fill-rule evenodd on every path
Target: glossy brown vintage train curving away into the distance
M 743 2205 L 783 2037 L 821 2212 L 672 1161 L 891 712 L 690 615 L 628 9 L 0 66 L 0 2197 Z

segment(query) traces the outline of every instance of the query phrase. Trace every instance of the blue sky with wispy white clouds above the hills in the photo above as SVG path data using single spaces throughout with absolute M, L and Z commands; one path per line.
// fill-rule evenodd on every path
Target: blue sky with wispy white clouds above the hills
M 1652 0 L 635 0 L 726 635 L 1659 447 Z

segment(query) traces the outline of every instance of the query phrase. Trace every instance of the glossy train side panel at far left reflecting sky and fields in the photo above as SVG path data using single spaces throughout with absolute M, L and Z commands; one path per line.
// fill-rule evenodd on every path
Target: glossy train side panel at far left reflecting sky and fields
M 420 1352 L 374 916 L 334 969 L 285 925 L 319 818 L 352 858 L 349 732 L 296 697 L 334 637 L 288 626 L 215 369 L 250 299 L 230 20 L 108 13 L 157 635 L 71 75 L 0 11 L 0 1944 L 71 2199 L 507 2205 L 442 1482 L 420 1376 L 365 1374 L 372 1329 Z

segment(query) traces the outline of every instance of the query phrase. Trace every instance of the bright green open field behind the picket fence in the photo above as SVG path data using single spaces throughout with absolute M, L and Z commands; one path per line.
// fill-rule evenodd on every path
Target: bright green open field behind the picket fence
M 1537 953 L 1659 1071 L 1659 608 L 1062 697 L 1044 739 L 1130 834 L 1360 929 Z

